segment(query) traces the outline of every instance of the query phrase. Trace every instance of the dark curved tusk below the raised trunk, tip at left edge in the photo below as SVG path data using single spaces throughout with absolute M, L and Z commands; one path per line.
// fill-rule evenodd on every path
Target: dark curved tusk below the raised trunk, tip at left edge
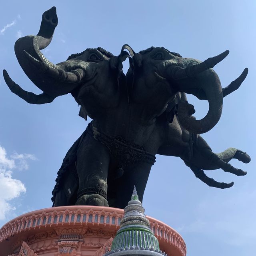
M 5 69 L 3 70 L 3 76 L 11 92 L 18 95 L 20 98 L 22 98 L 23 100 L 25 100 L 30 104 L 45 104 L 45 103 L 50 103 L 55 99 L 55 97 L 52 97 L 46 94 L 45 92 L 43 92 L 42 94 L 34 94 L 33 92 L 27 92 L 23 90 L 18 84 L 16 84 L 10 78 L 9 74 Z

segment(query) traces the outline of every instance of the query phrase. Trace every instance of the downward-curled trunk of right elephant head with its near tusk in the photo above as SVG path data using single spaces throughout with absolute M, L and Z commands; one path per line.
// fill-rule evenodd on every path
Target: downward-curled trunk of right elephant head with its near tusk
M 196 120 L 194 106 L 186 102 L 178 104 L 178 119 L 188 131 L 201 134 L 211 130 L 220 120 L 222 114 L 223 94 L 218 75 L 210 69 L 228 55 L 228 51 L 209 58 L 204 62 L 191 58 L 179 58 L 179 66 L 171 61 L 164 62 L 169 78 L 174 81 L 180 92 L 198 96 L 195 92 L 202 90 L 209 102 L 209 110 L 204 118 Z

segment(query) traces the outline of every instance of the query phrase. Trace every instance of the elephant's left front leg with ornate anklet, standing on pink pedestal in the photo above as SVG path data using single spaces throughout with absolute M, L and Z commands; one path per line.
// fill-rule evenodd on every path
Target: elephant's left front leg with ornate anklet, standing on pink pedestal
M 86 134 L 77 151 L 79 188 L 76 205 L 108 206 L 107 177 L 110 164 L 108 148 Z

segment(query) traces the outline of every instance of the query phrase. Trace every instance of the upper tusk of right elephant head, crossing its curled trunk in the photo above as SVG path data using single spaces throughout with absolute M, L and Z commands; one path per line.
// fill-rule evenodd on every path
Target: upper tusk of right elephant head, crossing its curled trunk
M 191 65 L 186 68 L 170 65 L 168 67 L 167 72 L 168 72 L 169 76 L 175 80 L 195 77 L 197 74 L 199 74 L 209 68 L 213 68 L 216 64 L 218 64 L 219 62 L 224 60 L 224 58 L 226 58 L 226 56 L 228 56 L 228 54 L 229 54 L 229 50 L 226 50 L 225 52 L 222 52 L 221 54 L 219 54 L 217 56 L 208 58 L 207 60 L 205 60 L 199 64 Z

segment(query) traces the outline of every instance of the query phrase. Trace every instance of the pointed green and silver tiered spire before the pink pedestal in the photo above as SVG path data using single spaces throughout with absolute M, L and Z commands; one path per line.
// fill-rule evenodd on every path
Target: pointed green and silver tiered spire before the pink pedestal
M 145 209 L 138 198 L 136 188 L 131 200 L 124 208 L 124 218 L 121 220 L 120 229 L 113 240 L 111 250 L 150 250 L 160 252 L 159 243 L 150 230 L 149 221 L 146 218 Z

